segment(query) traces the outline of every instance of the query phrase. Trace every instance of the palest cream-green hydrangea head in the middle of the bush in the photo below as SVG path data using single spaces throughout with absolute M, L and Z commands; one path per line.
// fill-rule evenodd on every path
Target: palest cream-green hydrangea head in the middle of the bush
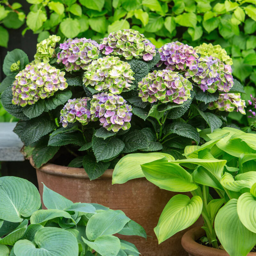
M 105 56 L 93 60 L 84 72 L 85 86 L 92 85 L 97 91 L 109 91 L 120 94 L 123 89 L 129 89 L 134 80 L 131 66 L 118 57 Z

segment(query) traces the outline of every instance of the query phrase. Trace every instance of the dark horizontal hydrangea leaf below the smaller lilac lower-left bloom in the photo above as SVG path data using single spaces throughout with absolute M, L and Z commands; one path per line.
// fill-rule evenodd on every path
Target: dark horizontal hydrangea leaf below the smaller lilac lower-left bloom
M 64 146 L 68 144 L 74 144 L 78 146 L 84 145 L 84 137 L 81 132 L 73 133 L 58 133 L 50 136 L 48 146 Z

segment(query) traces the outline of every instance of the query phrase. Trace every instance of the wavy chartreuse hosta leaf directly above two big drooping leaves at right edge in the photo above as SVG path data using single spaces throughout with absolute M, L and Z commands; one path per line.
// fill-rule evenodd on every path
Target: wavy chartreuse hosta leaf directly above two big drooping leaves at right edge
M 256 172 L 245 172 L 236 175 L 235 179 L 232 174 L 225 172 L 221 177 L 220 183 L 224 188 L 228 190 L 238 192 L 242 188 L 251 188 L 256 182 Z

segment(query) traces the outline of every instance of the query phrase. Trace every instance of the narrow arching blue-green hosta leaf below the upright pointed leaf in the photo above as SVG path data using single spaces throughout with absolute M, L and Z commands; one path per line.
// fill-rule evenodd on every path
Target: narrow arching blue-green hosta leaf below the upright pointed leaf
M 47 220 L 52 220 L 58 217 L 71 219 L 75 223 L 75 220 L 72 219 L 71 215 L 68 212 L 57 209 L 38 210 L 34 212 L 30 217 L 30 223 L 42 224 L 44 226 Z

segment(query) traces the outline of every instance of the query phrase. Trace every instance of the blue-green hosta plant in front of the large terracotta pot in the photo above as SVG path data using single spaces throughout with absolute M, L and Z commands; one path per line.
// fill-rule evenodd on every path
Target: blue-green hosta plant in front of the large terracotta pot
M 139 256 L 137 248 L 114 234 L 146 238 L 144 228 L 100 204 L 73 203 L 44 185 L 18 177 L 0 178 L 0 255 Z

